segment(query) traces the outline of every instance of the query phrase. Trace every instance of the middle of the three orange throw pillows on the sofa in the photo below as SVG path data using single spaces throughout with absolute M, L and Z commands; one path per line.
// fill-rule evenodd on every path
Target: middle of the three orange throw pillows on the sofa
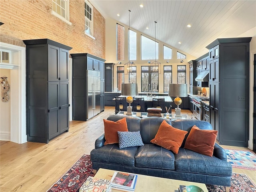
M 180 146 L 187 133 L 188 131 L 176 129 L 164 120 L 162 121 L 155 138 L 150 142 L 172 150 L 175 154 L 178 154 Z

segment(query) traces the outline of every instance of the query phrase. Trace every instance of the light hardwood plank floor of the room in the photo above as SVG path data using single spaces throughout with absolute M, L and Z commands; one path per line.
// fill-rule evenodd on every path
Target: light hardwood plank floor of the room
M 46 192 L 83 154 L 90 154 L 104 133 L 102 119 L 109 115 L 114 115 L 114 107 L 105 107 L 88 121 L 71 121 L 69 132 L 48 144 L 0 142 L 0 192 Z M 244 173 L 256 183 L 256 171 L 233 168 L 233 172 Z

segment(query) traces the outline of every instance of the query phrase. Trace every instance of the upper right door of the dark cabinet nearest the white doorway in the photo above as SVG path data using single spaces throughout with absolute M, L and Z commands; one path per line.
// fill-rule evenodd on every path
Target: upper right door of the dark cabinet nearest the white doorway
M 60 81 L 68 81 L 68 51 L 60 48 Z

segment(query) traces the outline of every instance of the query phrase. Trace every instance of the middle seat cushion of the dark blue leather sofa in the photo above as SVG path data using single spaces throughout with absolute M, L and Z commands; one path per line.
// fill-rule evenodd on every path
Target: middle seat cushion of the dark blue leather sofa
M 174 170 L 174 154 L 161 146 L 144 144 L 144 146 L 138 147 L 135 166 Z

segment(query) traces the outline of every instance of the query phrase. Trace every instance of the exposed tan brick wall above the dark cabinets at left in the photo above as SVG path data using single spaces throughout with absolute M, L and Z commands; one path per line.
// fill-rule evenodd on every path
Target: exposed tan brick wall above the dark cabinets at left
M 94 37 L 84 34 L 84 0 L 70 0 L 70 22 L 52 13 L 52 0 L 1 0 L 0 42 L 25 47 L 22 40 L 50 39 L 105 59 L 105 18 L 94 8 Z

